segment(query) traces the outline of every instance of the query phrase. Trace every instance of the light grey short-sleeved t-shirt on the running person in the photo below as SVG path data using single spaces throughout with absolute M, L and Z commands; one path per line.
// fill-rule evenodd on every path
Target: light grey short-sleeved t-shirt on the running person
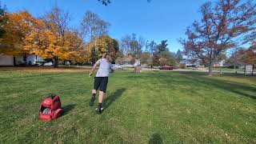
M 96 64 L 99 65 L 96 77 L 108 77 L 112 70 L 112 64 L 106 58 L 99 59 Z

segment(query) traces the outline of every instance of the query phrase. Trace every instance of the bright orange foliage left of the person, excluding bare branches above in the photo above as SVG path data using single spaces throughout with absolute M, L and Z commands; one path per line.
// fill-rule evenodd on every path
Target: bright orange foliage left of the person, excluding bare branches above
M 44 59 L 58 57 L 61 60 L 84 62 L 87 58 L 82 38 L 79 38 L 76 31 L 66 30 L 60 37 L 57 33 L 48 30 L 42 20 L 38 20 L 31 33 L 26 35 L 24 42 L 25 50 Z

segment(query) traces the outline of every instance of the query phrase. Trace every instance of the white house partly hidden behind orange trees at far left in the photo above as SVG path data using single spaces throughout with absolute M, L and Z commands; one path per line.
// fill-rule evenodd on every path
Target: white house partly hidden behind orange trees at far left
M 25 63 L 26 61 L 26 63 Z M 14 63 L 15 62 L 15 63 Z M 14 65 L 36 65 L 38 62 L 44 62 L 41 57 L 35 54 L 26 54 L 26 56 L 4 55 L 0 54 L 0 66 L 14 66 Z

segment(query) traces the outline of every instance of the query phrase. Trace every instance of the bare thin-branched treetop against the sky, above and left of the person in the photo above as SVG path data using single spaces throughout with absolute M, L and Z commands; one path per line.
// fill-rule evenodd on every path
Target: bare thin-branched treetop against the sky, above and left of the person
M 84 40 L 92 41 L 95 38 L 107 35 L 110 23 L 103 21 L 98 17 L 98 14 L 88 10 L 82 18 L 81 27 Z

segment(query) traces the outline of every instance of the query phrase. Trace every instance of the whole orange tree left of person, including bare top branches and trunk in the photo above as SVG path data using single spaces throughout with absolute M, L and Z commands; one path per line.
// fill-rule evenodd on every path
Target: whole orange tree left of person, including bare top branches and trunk
M 45 59 L 85 62 L 86 49 L 78 30 L 69 30 L 69 14 L 55 6 L 44 18 L 38 19 L 30 34 L 26 35 L 26 50 Z

